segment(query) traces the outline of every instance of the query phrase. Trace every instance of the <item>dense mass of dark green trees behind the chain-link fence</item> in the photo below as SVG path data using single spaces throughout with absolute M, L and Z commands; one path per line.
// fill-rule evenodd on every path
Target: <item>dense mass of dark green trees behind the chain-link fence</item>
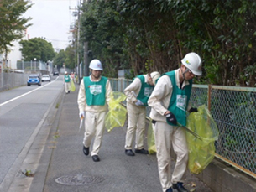
M 109 76 L 174 70 L 194 51 L 203 60 L 197 83 L 255 86 L 255 1 L 91 0 L 83 10 L 81 37 Z

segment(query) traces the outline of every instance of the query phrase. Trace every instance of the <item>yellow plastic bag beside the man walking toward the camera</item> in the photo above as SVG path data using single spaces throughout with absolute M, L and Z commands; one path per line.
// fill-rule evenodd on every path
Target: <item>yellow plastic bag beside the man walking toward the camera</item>
M 127 109 L 120 104 L 126 96 L 119 91 L 112 91 L 111 101 L 109 101 L 108 112 L 105 117 L 105 127 L 110 132 L 114 127 L 123 127 L 126 121 Z

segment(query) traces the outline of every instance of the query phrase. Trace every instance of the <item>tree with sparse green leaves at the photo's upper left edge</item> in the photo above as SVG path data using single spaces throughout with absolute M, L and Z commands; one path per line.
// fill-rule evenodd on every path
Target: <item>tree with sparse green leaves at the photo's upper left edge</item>
M 8 56 L 9 47 L 14 40 L 21 39 L 24 31 L 31 24 L 31 18 L 22 18 L 22 15 L 32 6 L 25 0 L 2 0 L 0 2 L 0 52 Z

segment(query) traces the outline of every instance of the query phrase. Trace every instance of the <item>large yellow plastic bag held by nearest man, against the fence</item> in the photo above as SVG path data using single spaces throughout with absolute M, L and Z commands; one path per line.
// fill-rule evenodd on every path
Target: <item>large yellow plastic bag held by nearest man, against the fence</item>
M 206 106 L 199 106 L 197 109 L 198 112 L 191 112 L 186 123 L 186 127 L 201 138 L 186 132 L 189 148 L 188 168 L 192 174 L 200 174 L 212 162 L 215 154 L 214 142 L 219 135 L 217 124 Z

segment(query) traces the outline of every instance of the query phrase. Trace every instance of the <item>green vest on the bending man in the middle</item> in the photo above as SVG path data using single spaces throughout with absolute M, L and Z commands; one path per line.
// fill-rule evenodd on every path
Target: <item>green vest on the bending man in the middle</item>
M 141 88 L 140 88 L 140 91 L 138 92 L 137 99 L 142 101 L 144 103 L 144 106 L 149 106 L 148 100 L 149 100 L 149 96 L 151 95 L 154 89 L 154 86 L 151 86 L 148 83 L 145 83 L 144 75 L 138 75 L 137 78 L 141 81 Z

